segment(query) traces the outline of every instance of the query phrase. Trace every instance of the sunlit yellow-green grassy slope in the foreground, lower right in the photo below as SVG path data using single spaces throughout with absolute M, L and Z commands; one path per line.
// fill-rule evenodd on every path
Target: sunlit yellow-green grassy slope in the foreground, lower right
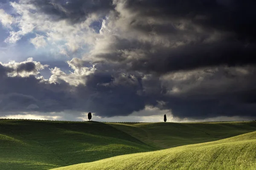
M 215 142 L 116 156 L 56 170 L 255 170 L 256 132 Z

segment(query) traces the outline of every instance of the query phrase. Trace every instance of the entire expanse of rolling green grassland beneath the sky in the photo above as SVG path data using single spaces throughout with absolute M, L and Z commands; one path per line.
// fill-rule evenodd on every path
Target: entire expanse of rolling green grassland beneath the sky
M 220 152 L 220 148 L 230 152 L 241 151 L 241 156 L 236 159 L 237 164 L 232 166 L 238 169 L 239 166 L 249 168 L 255 161 L 255 151 L 250 150 L 255 147 L 255 133 L 251 133 L 253 135 L 250 135 L 250 140 L 243 140 L 243 136 L 224 138 L 253 131 L 256 131 L 256 122 L 101 123 L 0 120 L 0 170 L 47 170 L 92 161 L 95 162 L 74 165 L 71 168 L 93 170 L 104 169 L 102 166 L 107 169 L 116 166 L 117 169 L 139 169 L 143 164 L 143 169 L 147 169 L 147 166 L 153 169 L 158 169 L 158 166 L 165 166 L 167 169 L 172 169 L 172 166 L 188 168 L 180 164 L 190 164 L 192 167 L 200 164 L 200 168 L 208 165 L 216 167 L 221 161 L 214 154 Z M 219 139 L 224 140 L 216 141 Z M 216 142 L 196 144 L 210 141 Z M 195 145 L 176 147 L 186 144 Z M 171 149 L 160 150 L 164 148 Z M 130 153 L 137 154 L 125 155 Z M 225 154 L 223 151 L 220 153 Z M 251 154 L 253 158 L 247 158 L 244 154 Z M 120 157 L 111 158 L 113 156 Z M 233 154 L 228 157 L 226 153 L 225 156 L 228 160 L 235 159 L 231 158 L 235 156 Z M 188 163 L 186 159 L 190 157 L 193 158 Z M 127 158 L 129 160 L 124 161 Z M 209 163 L 208 158 L 216 165 Z M 249 158 L 251 159 L 247 160 Z M 228 160 L 222 160 L 222 163 Z M 160 162 L 162 163 L 159 164 Z

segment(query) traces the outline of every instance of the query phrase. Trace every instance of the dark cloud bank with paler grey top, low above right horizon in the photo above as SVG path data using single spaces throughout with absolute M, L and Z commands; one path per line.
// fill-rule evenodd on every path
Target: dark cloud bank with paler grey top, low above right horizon
M 218 68 L 212 74 L 204 71 L 204 80 L 197 85 L 197 77 L 191 77 L 183 82 L 169 82 L 180 87 L 181 93 L 169 94 L 164 99 L 165 108 L 172 108 L 173 113 L 180 118 L 193 117 L 204 119 L 216 116 L 255 116 L 256 88 L 255 67 L 248 72 L 236 72 L 237 67 Z M 201 76 L 199 76 L 201 77 Z

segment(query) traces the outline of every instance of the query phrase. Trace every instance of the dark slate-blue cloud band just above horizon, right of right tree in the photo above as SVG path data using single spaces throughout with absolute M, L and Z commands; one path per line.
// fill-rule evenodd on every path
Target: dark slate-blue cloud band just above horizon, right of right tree
M 212 90 L 210 85 L 205 88 Z M 205 94 L 172 96 L 166 99 L 169 102 L 165 108 L 172 108 L 174 115 L 180 118 L 204 119 L 217 116 L 255 116 L 256 89 L 246 89 L 242 92 L 243 94 L 238 92 L 231 94 L 229 91 L 232 88 L 232 86 L 227 87 L 226 92 L 223 91 L 222 94 L 215 92 L 211 96 Z

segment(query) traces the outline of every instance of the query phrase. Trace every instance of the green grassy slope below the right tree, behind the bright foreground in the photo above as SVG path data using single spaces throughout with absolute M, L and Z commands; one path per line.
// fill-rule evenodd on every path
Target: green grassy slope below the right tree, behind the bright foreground
M 256 130 L 256 122 L 108 123 L 158 149 L 216 141 Z

